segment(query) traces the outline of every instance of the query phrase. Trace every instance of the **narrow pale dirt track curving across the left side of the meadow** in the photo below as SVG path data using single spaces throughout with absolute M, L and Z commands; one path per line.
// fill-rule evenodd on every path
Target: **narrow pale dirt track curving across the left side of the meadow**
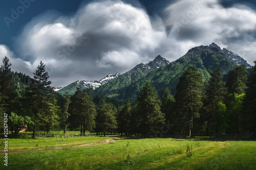
M 11 153 L 20 153 L 20 152 L 26 152 L 26 151 L 40 151 L 40 150 L 57 150 L 57 149 L 63 149 L 63 148 L 75 148 L 75 147 L 87 147 L 91 145 L 96 144 L 105 144 L 105 143 L 111 143 L 116 142 L 118 139 L 121 139 L 121 137 L 115 137 L 115 139 L 106 139 L 101 142 L 94 142 L 94 143 L 86 143 L 86 144 L 75 144 L 75 145 L 67 145 L 65 147 L 48 147 L 48 148 L 33 148 L 33 149 L 15 149 L 15 150 L 8 150 L 8 154 Z M 4 155 L 5 152 L 0 151 L 0 155 Z

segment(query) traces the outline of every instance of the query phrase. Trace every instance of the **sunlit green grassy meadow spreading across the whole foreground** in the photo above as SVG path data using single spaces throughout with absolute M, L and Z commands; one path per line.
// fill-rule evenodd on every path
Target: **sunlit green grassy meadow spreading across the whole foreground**
M 255 140 L 111 138 L 9 139 L 0 169 L 256 169 Z

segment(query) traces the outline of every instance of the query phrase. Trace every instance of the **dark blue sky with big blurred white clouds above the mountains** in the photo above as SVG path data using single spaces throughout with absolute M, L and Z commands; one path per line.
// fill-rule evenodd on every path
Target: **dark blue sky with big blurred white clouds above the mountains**
M 121 74 L 161 55 L 174 61 L 216 42 L 255 60 L 255 1 L 0 2 L 0 59 L 32 76 L 42 60 L 53 86 Z

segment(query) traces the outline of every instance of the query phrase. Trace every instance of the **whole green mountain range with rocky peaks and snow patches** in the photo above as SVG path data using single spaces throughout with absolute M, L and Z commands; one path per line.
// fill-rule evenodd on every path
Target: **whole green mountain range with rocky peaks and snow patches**
M 173 94 L 175 93 L 180 76 L 189 66 L 196 66 L 202 74 L 203 80 L 207 81 L 211 77 L 211 71 L 216 67 L 221 67 L 223 74 L 227 74 L 228 70 L 241 64 L 250 67 L 242 57 L 226 48 L 221 50 L 217 44 L 211 43 L 210 45 L 191 48 L 184 56 L 173 62 L 169 62 L 159 55 L 153 61 L 147 64 L 138 64 L 124 74 L 119 74 L 102 84 L 97 81 L 77 81 L 58 92 L 72 94 L 77 87 L 81 89 L 93 88 L 95 89 L 92 94 L 94 98 L 101 98 L 104 95 L 118 101 L 124 101 L 128 98 L 134 100 L 143 85 L 150 82 L 162 96 L 166 87 Z

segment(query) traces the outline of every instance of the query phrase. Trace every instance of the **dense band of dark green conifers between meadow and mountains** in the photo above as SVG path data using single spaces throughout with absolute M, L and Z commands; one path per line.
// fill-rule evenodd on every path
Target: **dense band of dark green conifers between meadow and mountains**
M 144 137 L 159 132 L 188 136 L 256 133 L 256 66 L 250 74 L 245 65 L 234 66 L 227 72 L 226 82 L 220 67 L 212 68 L 207 81 L 198 68 L 189 66 L 179 78 L 175 95 L 165 88 L 159 96 L 152 83 L 144 82 L 136 99 L 121 104 L 111 103 L 104 95 L 94 99 L 92 89 L 63 96 L 54 92 L 45 66 L 40 62 L 32 79 L 11 71 L 9 59 L 3 59 L 0 116 L 3 119 L 8 114 L 12 133 L 25 126 L 33 130 L 33 137 L 37 130 L 62 129 L 66 133 L 67 128 Z M 163 130 L 163 125 L 168 126 Z M 0 129 L 4 130 L 4 122 Z

